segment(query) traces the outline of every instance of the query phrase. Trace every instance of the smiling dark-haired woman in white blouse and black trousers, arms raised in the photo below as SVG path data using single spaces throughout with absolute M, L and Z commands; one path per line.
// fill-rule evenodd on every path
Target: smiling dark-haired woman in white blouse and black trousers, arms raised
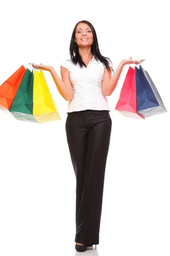
M 59 93 L 69 101 L 65 129 L 77 184 L 75 247 L 77 251 L 85 251 L 88 246 L 99 244 L 112 126 L 106 96 L 116 88 L 123 67 L 138 61 L 132 57 L 123 59 L 111 76 L 113 65 L 101 55 L 94 26 L 87 20 L 74 27 L 70 55 L 71 59 L 61 64 L 62 79 L 53 67 L 37 66 L 51 73 Z

